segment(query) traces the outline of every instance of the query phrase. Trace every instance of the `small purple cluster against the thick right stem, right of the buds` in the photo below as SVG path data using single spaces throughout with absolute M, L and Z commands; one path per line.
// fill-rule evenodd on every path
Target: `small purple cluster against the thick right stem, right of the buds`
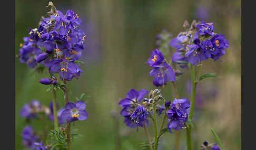
M 171 105 L 171 108 L 170 108 Z M 190 101 L 187 99 L 174 99 L 174 101 L 166 101 L 165 107 L 170 108 L 166 115 L 168 116 L 168 130 L 172 133 L 171 128 L 179 131 L 185 127 L 185 122 L 188 120 L 189 109 L 190 109 Z

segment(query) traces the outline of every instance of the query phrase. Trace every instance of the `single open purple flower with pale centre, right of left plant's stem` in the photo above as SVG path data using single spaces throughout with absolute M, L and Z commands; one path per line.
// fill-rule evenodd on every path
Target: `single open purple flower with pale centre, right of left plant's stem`
M 68 102 L 65 105 L 65 110 L 62 112 L 61 117 L 68 122 L 73 122 L 77 120 L 86 120 L 87 112 L 85 111 L 85 102 L 77 101 L 75 103 Z

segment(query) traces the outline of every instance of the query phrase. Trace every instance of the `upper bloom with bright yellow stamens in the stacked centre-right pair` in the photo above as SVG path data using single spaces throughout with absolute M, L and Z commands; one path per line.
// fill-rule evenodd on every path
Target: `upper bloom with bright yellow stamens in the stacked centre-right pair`
M 155 49 L 154 51 L 151 51 L 151 56 L 147 60 L 147 64 L 149 64 L 150 67 L 154 67 L 156 65 L 160 65 L 164 60 L 163 54 L 161 51 Z

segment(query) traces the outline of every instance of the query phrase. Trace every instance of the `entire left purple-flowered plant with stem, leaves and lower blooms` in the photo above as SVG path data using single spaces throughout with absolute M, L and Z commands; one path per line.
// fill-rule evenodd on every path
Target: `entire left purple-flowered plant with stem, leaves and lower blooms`
M 74 78 L 79 78 L 83 72 L 80 69 L 80 59 L 84 49 L 84 32 L 78 28 L 81 19 L 73 10 L 67 10 L 63 14 L 57 10 L 52 2 L 49 2 L 48 17 L 42 17 L 37 28 L 29 29 L 29 36 L 24 37 L 24 43 L 20 44 L 19 60 L 35 72 L 42 73 L 45 68 L 50 78 L 43 78 L 39 82 L 50 85 L 47 91 L 52 90 L 53 100 L 49 106 L 42 105 L 33 100 L 25 104 L 20 115 L 26 120 L 41 119 L 38 114 L 47 116 L 54 122 L 54 130 L 47 136 L 46 141 L 33 131 L 31 126 L 26 126 L 22 133 L 23 145 L 30 149 L 71 149 L 71 138 L 77 134 L 71 132 L 71 122 L 87 119 L 84 94 L 76 98 L 76 102 L 68 102 L 67 83 Z M 58 109 L 56 91 L 64 93 L 65 109 Z M 60 127 L 59 125 L 65 124 Z M 50 143 L 48 142 L 50 139 Z M 67 147 L 67 148 L 66 148 Z

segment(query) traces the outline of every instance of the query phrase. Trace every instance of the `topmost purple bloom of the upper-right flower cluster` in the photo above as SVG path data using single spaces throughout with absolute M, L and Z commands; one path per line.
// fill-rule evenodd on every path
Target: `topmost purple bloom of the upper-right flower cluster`
M 198 28 L 199 35 L 215 35 L 213 31 L 213 23 L 200 22 L 200 24 L 196 25 L 196 28 Z

